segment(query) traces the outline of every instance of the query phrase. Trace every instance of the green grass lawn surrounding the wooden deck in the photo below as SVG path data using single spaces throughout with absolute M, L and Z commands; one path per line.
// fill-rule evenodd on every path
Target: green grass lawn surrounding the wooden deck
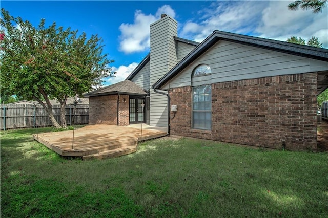
M 328 214 L 328 153 L 157 139 L 131 155 L 81 161 L 33 141 L 35 132 L 1 133 L 1 217 Z

